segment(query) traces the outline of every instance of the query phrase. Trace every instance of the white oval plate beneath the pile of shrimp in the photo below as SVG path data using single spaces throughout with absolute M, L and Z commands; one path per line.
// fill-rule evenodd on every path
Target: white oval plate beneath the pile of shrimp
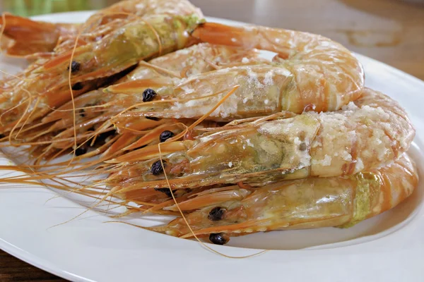
M 81 22 L 89 15 L 61 13 L 37 19 Z M 358 58 L 365 67 L 367 86 L 394 97 L 416 125 L 411 152 L 423 176 L 419 148 L 423 148 L 424 82 L 365 56 Z M 12 71 L 15 63 L 3 58 L 0 69 Z M 0 159 L 0 164 L 7 163 Z M 423 281 L 424 277 L 422 181 L 406 202 L 353 228 L 254 234 L 232 238 L 229 245 L 233 247 L 212 245 L 233 256 L 257 252 L 252 249 L 276 249 L 249 259 L 227 259 L 191 240 L 104 223 L 110 218 L 93 211 L 51 228 L 86 210 L 65 197 L 46 202 L 54 195 L 45 188 L 0 188 L 0 248 L 73 281 Z

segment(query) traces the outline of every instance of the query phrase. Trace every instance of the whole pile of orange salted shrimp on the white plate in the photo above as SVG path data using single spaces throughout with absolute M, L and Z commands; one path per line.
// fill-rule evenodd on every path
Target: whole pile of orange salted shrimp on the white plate
M 218 245 L 348 228 L 418 185 L 406 111 L 366 88 L 358 59 L 326 37 L 208 23 L 188 1 L 0 24 L 6 54 L 30 60 L 0 82 L 0 146 L 31 161 L 4 167 L 24 175 L 2 182 L 54 180 L 126 207 L 121 217 L 176 217 L 151 231 Z M 102 177 L 62 181 L 69 173 Z

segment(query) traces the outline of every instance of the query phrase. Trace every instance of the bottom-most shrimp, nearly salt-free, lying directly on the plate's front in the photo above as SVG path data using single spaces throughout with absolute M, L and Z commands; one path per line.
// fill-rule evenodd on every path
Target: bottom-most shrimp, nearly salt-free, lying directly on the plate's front
M 262 231 L 337 226 L 348 228 L 396 207 L 418 185 L 404 154 L 391 166 L 335 178 L 283 180 L 261 188 L 235 185 L 199 192 L 179 202 L 194 234 L 223 245 L 230 236 Z M 175 205 L 163 207 L 177 211 Z M 182 218 L 150 228 L 182 238 L 193 233 Z

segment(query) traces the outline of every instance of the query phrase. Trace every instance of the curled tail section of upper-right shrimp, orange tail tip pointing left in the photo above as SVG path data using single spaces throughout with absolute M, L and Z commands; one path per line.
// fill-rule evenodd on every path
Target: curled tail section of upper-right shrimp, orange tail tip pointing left
M 202 42 L 276 52 L 274 61 L 291 73 L 293 93 L 282 97 L 282 109 L 302 112 L 336 111 L 360 96 L 363 67 L 351 51 L 321 35 L 271 27 L 231 27 L 218 23 L 198 25 L 192 36 Z M 296 103 L 302 99 L 302 103 Z

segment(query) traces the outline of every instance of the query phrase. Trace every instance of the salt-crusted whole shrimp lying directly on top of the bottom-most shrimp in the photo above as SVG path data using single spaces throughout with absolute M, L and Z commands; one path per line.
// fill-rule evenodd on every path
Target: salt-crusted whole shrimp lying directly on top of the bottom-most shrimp
M 194 140 L 136 149 L 116 164 L 106 183 L 128 192 L 167 187 L 346 176 L 387 166 L 411 145 L 415 130 L 393 99 L 365 89 L 341 111 L 269 116 L 213 128 Z

